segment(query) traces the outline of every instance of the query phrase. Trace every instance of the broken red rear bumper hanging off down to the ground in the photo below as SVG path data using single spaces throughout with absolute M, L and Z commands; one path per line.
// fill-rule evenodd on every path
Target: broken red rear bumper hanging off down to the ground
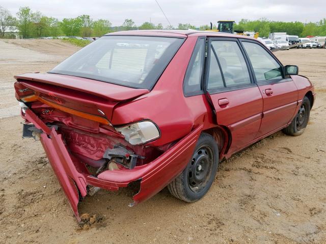
M 62 135 L 58 134 L 55 128 L 49 129 L 31 109 L 26 111 L 26 118 L 43 131 L 41 143 L 77 221 L 80 221 L 78 202 L 80 197 L 84 198 L 87 195 L 87 186 L 117 191 L 133 181 L 141 180 L 140 191 L 133 196 L 134 202 L 131 205 L 145 201 L 158 193 L 186 167 L 202 130 L 202 126 L 196 128 L 146 165 L 133 169 L 106 170 L 95 177 L 88 172 L 82 162 L 69 153 Z

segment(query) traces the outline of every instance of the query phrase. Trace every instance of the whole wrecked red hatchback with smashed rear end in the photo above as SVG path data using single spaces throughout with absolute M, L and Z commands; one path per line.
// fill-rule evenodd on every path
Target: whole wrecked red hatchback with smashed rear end
M 165 187 L 186 202 L 218 164 L 279 130 L 304 132 L 308 78 L 253 38 L 200 31 L 103 36 L 46 74 L 15 76 L 23 137 L 40 139 L 79 221 L 99 189 Z

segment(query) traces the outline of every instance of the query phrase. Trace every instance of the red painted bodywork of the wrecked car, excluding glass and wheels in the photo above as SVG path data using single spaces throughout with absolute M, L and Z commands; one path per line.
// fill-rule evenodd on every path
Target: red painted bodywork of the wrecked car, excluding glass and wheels
M 41 142 L 69 203 L 78 217 L 79 194 L 87 194 L 86 186 L 117 191 L 132 181 L 141 179 L 140 192 L 135 203 L 156 194 L 186 166 L 202 131 L 223 130 L 225 144 L 220 145 L 220 159 L 274 133 L 290 123 L 303 97 L 314 88 L 307 78 L 291 76 L 292 81 L 253 85 L 250 88 L 211 94 L 218 125 L 205 95 L 184 97 L 183 78 L 199 36 L 233 37 L 221 33 L 132 32 L 134 35 L 158 35 L 186 38 L 170 64 L 149 92 L 91 79 L 55 74 L 25 74 L 16 76 L 16 98 L 30 95 L 31 90 L 52 102 L 97 114 L 105 112 L 113 126 L 125 125 L 142 119 L 154 121 L 160 138 L 146 145 L 129 145 L 112 126 L 104 126 L 66 112 L 53 110 L 41 102 L 33 102 L 22 114 L 27 121 L 41 129 Z M 114 34 L 112 34 L 114 35 Z M 121 32 L 119 35 L 130 35 Z M 248 38 L 240 36 L 240 38 Z M 19 89 L 28 87 L 28 93 Z M 265 92 L 268 89 L 269 92 Z M 270 92 L 270 90 L 272 92 Z M 49 110 L 50 112 L 46 112 Z M 49 129 L 45 123 L 59 125 Z M 82 157 L 100 160 L 106 148 L 123 144 L 141 156 L 133 169 L 121 168 L 92 176 Z

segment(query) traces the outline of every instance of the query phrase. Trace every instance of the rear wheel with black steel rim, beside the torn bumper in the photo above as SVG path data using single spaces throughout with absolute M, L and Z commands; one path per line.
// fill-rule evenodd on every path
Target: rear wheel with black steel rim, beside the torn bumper
M 168 185 L 171 195 L 185 202 L 201 199 L 213 184 L 218 166 L 218 145 L 211 135 L 202 133 L 191 161 Z

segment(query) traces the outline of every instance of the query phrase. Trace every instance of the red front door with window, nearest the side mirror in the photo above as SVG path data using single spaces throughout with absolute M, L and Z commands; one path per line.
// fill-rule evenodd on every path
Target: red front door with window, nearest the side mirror
M 241 40 L 263 97 L 263 117 L 258 137 L 277 131 L 293 118 L 298 92 L 290 76 L 283 75 L 283 66 L 259 42 Z

